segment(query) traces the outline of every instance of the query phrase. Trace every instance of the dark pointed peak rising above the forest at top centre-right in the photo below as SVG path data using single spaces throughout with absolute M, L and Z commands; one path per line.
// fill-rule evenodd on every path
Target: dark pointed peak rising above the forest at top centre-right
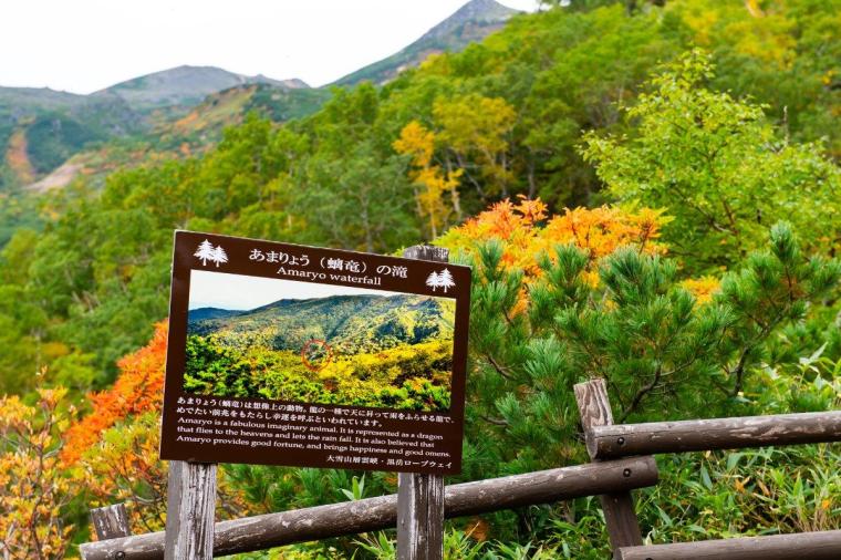
M 457 52 L 468 44 L 481 41 L 499 30 L 519 11 L 495 0 L 470 0 L 453 15 L 442 21 L 399 52 L 364 66 L 334 82 L 334 85 L 354 85 L 360 82 L 383 84 L 403 70 L 417 66 L 430 54 Z

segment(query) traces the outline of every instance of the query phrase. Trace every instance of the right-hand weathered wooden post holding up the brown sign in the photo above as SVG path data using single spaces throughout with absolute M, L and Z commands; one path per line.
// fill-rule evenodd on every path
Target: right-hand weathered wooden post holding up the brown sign
M 449 262 L 442 247 L 416 245 L 407 259 Z M 397 560 L 442 560 L 444 557 L 444 476 L 397 475 Z

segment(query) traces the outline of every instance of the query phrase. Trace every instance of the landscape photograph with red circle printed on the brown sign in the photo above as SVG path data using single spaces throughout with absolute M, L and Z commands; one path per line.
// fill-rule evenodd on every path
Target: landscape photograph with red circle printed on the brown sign
M 184 391 L 447 411 L 455 309 L 448 298 L 197 270 Z

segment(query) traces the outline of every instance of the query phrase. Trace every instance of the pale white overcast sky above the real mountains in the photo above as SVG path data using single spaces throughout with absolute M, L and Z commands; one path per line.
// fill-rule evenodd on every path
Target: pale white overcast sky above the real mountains
M 3 0 L 0 85 L 86 94 L 188 64 L 320 86 L 397 52 L 466 1 Z

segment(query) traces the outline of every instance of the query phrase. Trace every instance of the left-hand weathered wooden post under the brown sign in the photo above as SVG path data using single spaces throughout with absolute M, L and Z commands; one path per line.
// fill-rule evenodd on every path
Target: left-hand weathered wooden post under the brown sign
M 214 558 L 216 463 L 169 462 L 165 560 Z

